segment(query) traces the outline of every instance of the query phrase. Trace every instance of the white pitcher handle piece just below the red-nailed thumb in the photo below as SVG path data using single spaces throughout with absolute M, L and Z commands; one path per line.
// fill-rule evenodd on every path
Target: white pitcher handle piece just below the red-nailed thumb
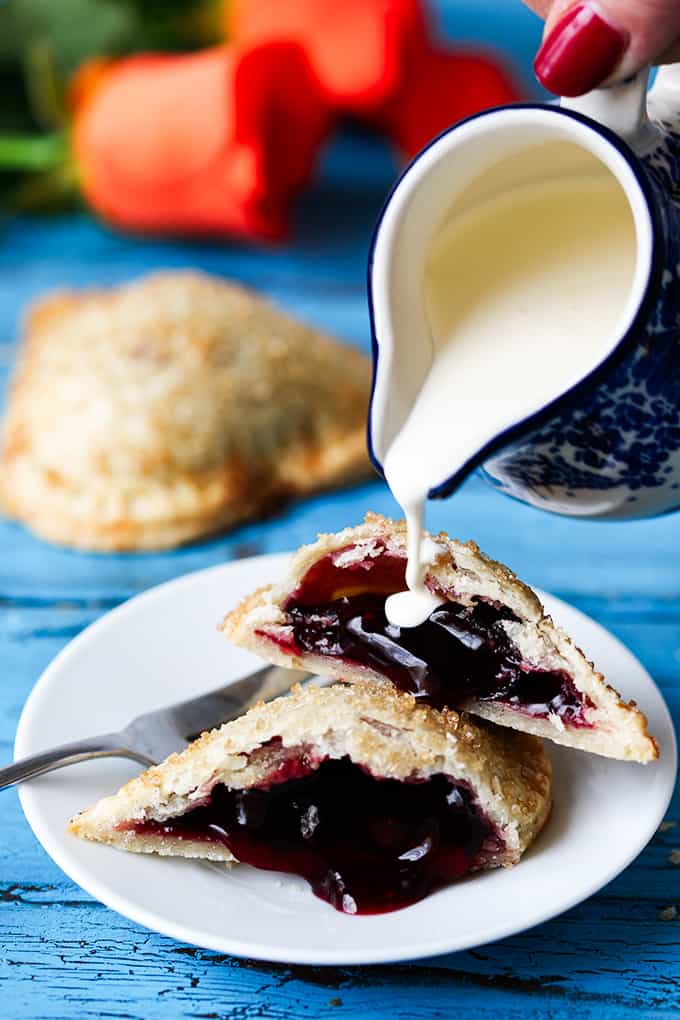
M 647 86 L 649 67 L 639 71 L 622 85 L 595 89 L 585 96 L 564 98 L 565 110 L 583 113 L 609 128 L 633 149 L 641 148 L 649 132 L 647 120 Z

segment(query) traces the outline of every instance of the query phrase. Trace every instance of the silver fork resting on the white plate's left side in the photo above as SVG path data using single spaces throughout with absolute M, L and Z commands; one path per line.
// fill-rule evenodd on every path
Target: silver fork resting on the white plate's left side
M 132 758 L 142 765 L 155 765 L 187 747 L 203 730 L 236 719 L 255 702 L 270 701 L 309 675 L 299 669 L 265 666 L 201 698 L 138 715 L 117 733 L 62 744 L 1 768 L 0 789 L 91 758 Z

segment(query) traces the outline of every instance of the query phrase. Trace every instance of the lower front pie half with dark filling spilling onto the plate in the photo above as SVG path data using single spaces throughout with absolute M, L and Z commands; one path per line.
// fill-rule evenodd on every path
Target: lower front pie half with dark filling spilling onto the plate
M 138 853 L 293 872 L 337 910 L 380 913 L 516 864 L 550 807 L 534 737 L 359 683 L 260 704 L 69 828 Z

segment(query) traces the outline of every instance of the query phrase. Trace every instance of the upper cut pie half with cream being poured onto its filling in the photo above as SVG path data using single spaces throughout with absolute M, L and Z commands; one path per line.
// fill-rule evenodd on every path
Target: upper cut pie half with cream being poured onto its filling
M 658 757 L 646 719 L 605 683 L 534 593 L 473 543 L 439 534 L 426 583 L 446 603 L 419 627 L 388 624 L 406 588 L 406 527 L 369 514 L 295 556 L 280 584 L 223 623 L 271 662 L 323 676 L 391 682 L 434 706 L 609 758 Z

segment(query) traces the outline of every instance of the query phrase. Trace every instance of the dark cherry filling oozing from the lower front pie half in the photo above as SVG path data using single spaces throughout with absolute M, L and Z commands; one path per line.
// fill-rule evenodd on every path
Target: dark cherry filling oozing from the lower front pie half
M 127 827 L 223 843 L 256 868 L 302 875 L 348 914 L 416 903 L 504 849 L 467 787 L 446 775 L 377 779 L 349 758 L 264 788 L 217 785 L 204 807 Z

